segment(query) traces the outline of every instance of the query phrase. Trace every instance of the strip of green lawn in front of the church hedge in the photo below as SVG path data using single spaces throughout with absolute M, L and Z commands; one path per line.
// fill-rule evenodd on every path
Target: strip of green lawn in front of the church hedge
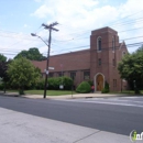
M 25 90 L 25 94 L 30 95 L 43 95 L 44 90 Z M 73 91 L 73 94 L 76 94 Z M 46 90 L 47 96 L 63 96 L 63 95 L 72 95 L 72 91 L 68 90 Z

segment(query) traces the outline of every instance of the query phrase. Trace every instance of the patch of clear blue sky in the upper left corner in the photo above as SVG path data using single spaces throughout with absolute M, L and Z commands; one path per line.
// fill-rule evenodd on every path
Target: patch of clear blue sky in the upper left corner
M 29 33 L 29 30 L 41 24 L 38 19 L 31 16 L 38 7 L 40 3 L 34 0 L 0 1 L 0 29 Z

